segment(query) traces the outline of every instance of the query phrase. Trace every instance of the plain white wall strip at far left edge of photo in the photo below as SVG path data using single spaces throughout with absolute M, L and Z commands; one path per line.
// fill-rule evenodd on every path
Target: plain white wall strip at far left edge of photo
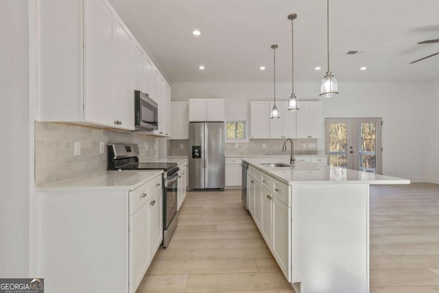
M 28 2 L 0 2 L 0 277 L 28 276 Z

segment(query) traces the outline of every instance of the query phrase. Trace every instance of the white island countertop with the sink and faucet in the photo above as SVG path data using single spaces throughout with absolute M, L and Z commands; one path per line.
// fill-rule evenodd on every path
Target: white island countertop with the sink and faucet
M 296 163 L 295 167 L 266 167 L 261 165 L 261 161 L 258 159 L 243 159 L 243 161 L 288 185 L 309 183 L 410 184 L 408 179 L 327 165 L 299 162 Z

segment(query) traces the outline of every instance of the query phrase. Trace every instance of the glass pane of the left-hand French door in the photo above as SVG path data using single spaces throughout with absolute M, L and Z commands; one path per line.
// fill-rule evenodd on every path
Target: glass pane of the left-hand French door
M 348 126 L 344 122 L 329 124 L 329 165 L 348 167 Z

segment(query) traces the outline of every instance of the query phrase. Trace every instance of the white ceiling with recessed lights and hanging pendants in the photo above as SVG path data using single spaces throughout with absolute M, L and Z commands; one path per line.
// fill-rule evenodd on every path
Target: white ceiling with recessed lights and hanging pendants
M 171 82 L 271 82 L 272 44 L 276 80 L 291 81 L 292 12 L 295 81 L 320 82 L 327 69 L 325 0 L 110 2 Z M 416 45 L 439 38 L 438 12 L 438 0 L 331 0 L 331 71 L 339 82 L 438 80 L 439 55 L 409 65 L 439 51 L 439 43 Z

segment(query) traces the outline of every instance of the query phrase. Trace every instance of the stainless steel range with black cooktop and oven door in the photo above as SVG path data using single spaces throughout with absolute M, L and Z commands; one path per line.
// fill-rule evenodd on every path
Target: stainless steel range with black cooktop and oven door
M 178 167 L 176 163 L 139 163 L 136 144 L 113 143 L 108 145 L 109 170 L 161 169 L 163 173 L 163 247 L 167 247 L 177 226 Z

